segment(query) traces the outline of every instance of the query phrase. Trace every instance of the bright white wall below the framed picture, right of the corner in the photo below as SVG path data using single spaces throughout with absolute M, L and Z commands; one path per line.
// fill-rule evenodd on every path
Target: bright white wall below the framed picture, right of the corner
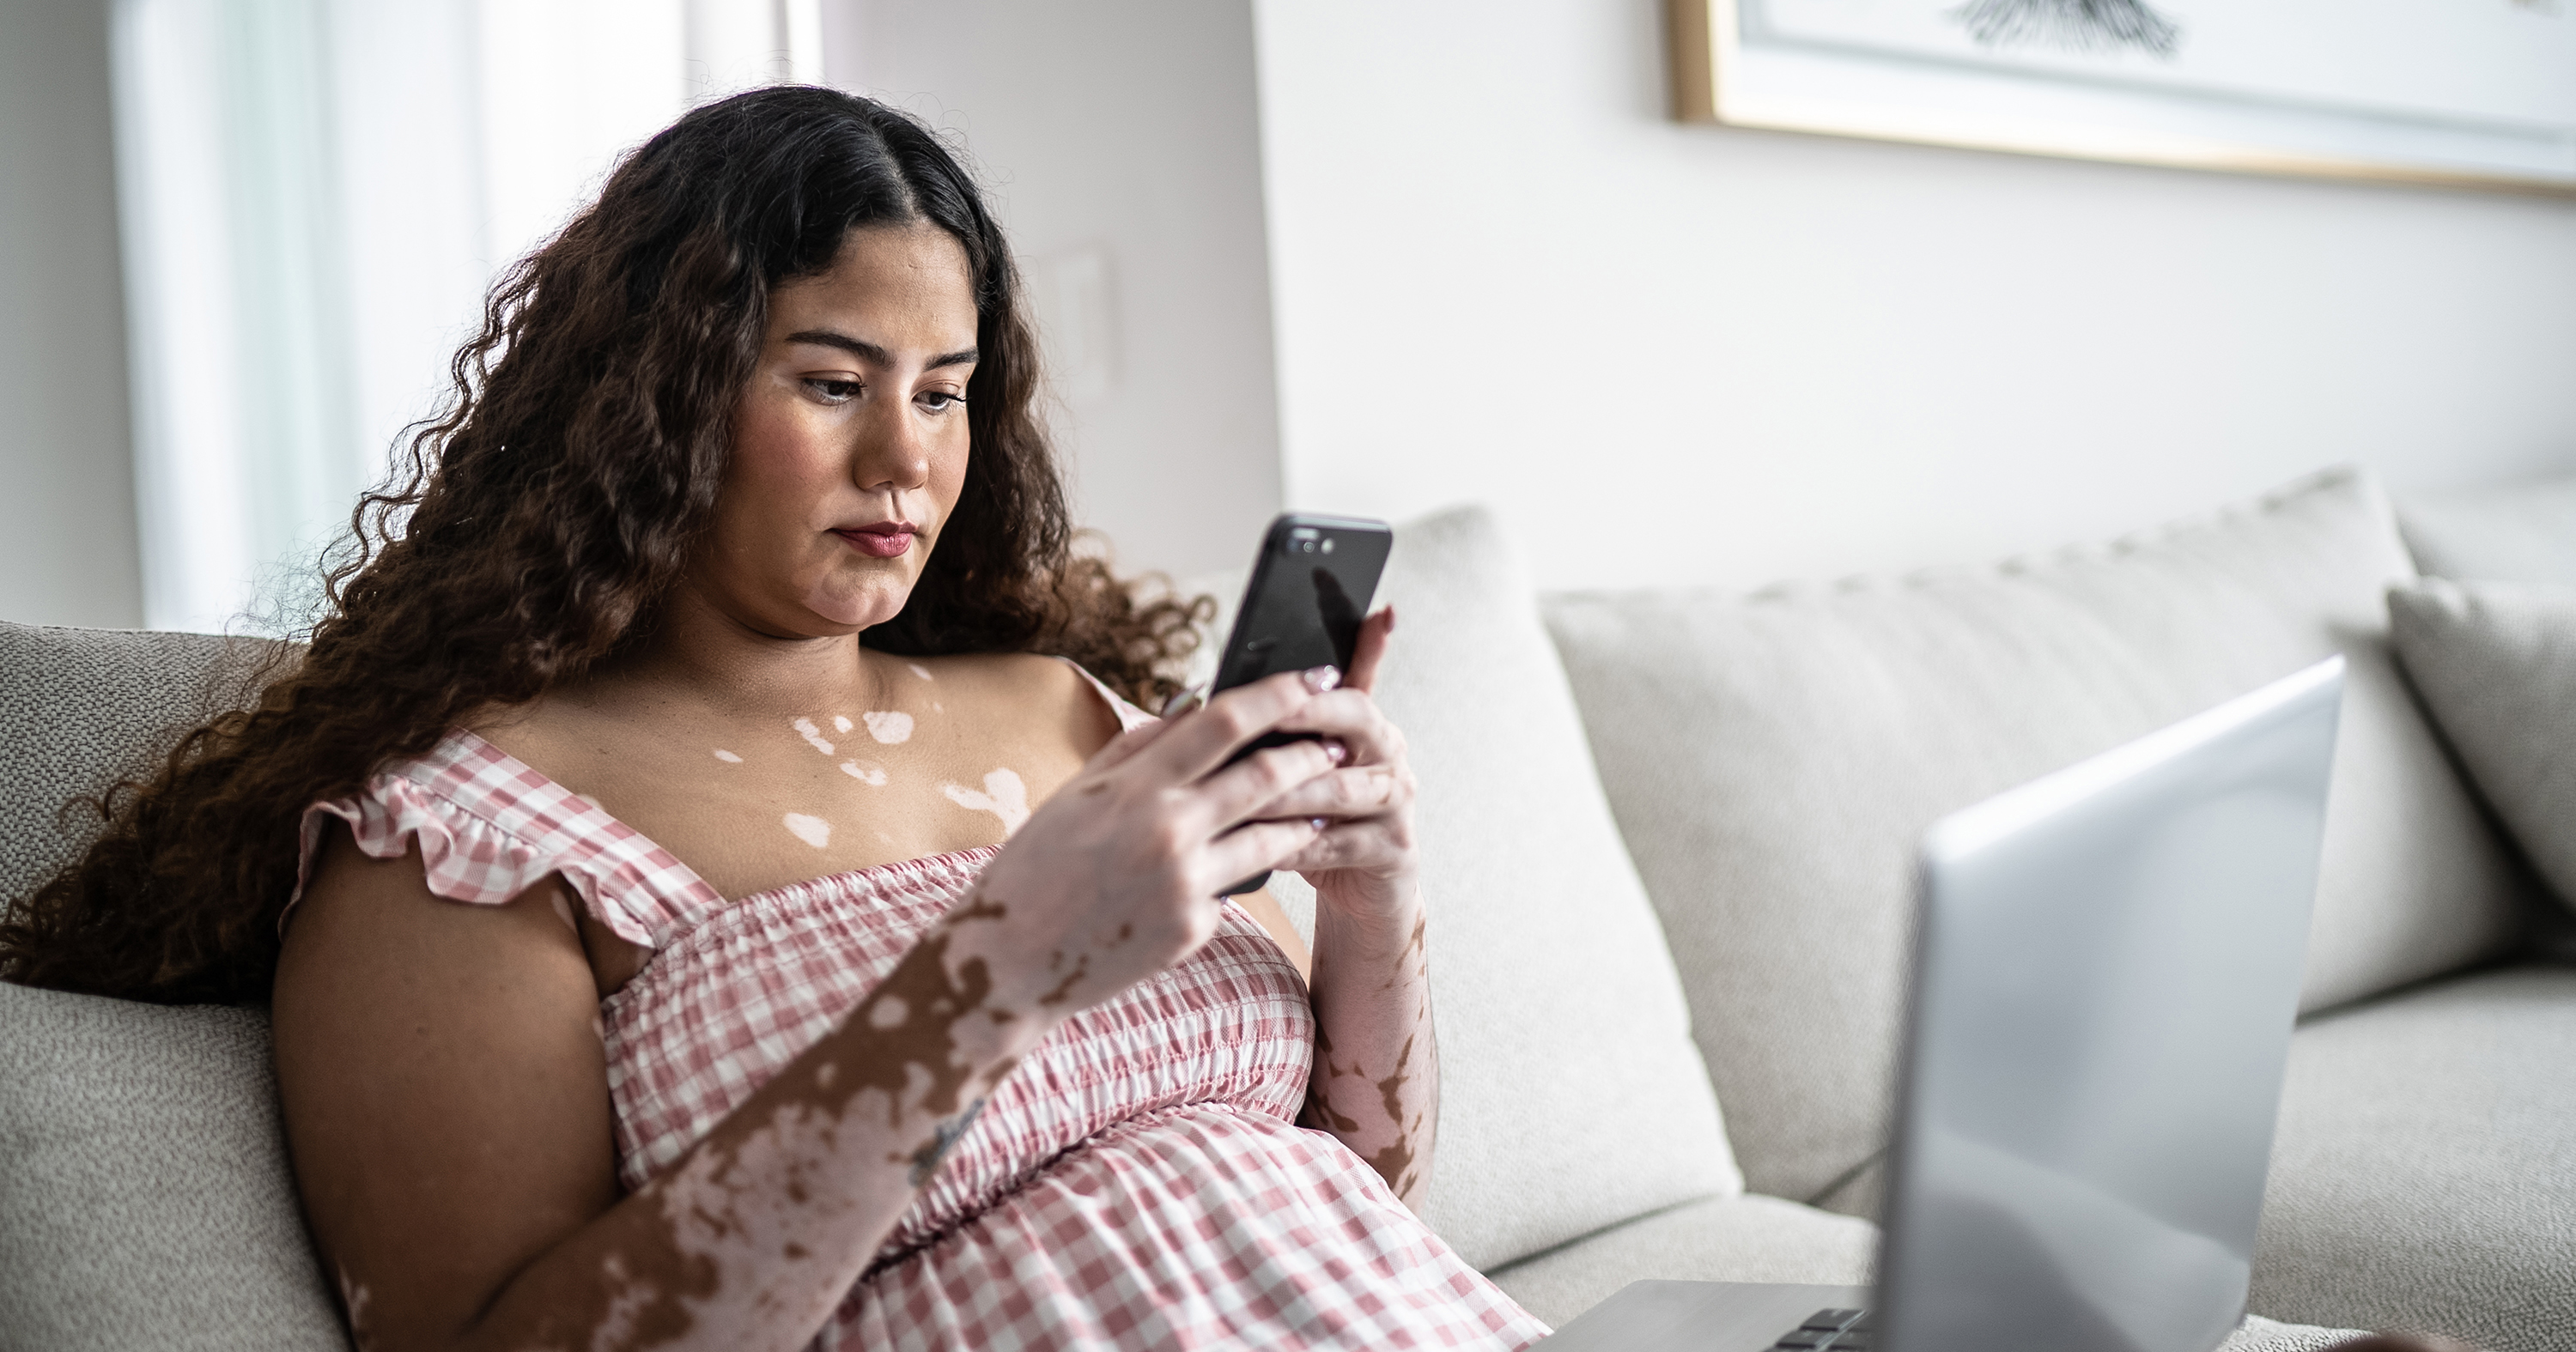
M 1285 497 L 1546 585 L 2576 469 L 2576 203 L 1680 126 L 1656 0 L 1257 0 Z

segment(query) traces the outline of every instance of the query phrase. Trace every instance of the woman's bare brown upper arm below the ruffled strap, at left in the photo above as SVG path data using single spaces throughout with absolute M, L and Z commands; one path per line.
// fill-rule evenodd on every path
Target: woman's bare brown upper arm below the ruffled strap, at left
M 464 1326 L 618 1200 L 600 994 L 562 883 L 456 904 L 332 834 L 270 999 L 296 1187 L 379 1326 Z

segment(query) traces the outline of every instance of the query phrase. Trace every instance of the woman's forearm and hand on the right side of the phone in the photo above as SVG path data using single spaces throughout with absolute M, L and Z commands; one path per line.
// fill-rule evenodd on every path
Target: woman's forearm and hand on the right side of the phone
M 1370 690 L 1396 613 L 1360 626 L 1340 690 L 1306 703 L 1280 731 L 1316 731 L 1342 767 L 1280 796 L 1260 816 L 1321 816 L 1329 829 L 1280 868 L 1314 883 L 1314 1071 L 1303 1125 L 1329 1131 L 1419 1210 L 1440 1123 L 1422 868 L 1414 850 L 1414 773 L 1404 734 Z

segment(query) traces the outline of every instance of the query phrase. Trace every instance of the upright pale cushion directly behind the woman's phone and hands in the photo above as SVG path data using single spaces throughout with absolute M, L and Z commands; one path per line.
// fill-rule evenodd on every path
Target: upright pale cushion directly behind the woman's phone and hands
M 1432 515 L 1396 528 L 1378 600 L 1401 621 L 1378 700 L 1422 780 L 1430 878 L 1425 1218 L 1494 1267 L 1736 1192 L 1672 955 L 1520 561 L 1486 512 Z M 1303 899 L 1293 878 L 1278 891 Z

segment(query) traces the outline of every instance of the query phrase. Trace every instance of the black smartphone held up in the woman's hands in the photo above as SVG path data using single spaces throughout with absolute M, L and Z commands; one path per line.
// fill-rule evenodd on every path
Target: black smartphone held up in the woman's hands
M 1347 672 L 1350 654 L 1360 646 L 1360 621 L 1378 595 L 1378 574 L 1386 572 L 1394 543 L 1396 533 L 1383 520 L 1311 512 L 1275 518 L 1270 530 L 1262 530 L 1262 551 L 1252 559 L 1252 582 L 1244 585 L 1244 605 L 1234 613 L 1234 631 L 1216 657 L 1208 693 L 1324 664 Z M 1229 765 L 1262 747 L 1311 737 L 1291 731 L 1255 737 Z M 1224 896 L 1255 891 L 1267 881 L 1270 870 L 1262 870 L 1229 886 Z

